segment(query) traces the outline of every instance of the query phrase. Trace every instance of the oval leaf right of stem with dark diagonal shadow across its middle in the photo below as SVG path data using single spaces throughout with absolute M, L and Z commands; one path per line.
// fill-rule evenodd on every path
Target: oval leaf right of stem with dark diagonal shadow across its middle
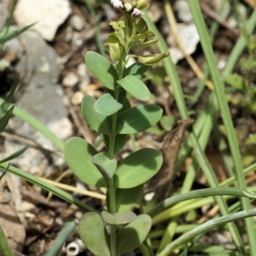
M 129 108 L 119 114 L 116 133 L 131 134 L 145 131 L 160 120 L 162 113 L 162 108 L 151 104 Z

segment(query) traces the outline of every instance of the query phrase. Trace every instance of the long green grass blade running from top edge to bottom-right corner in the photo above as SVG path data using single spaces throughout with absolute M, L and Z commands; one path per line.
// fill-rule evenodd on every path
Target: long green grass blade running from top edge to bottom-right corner
M 232 123 L 230 109 L 225 98 L 224 84 L 218 73 L 217 63 L 216 61 L 213 61 L 215 60 L 215 57 L 211 47 L 211 40 L 207 33 L 207 27 L 203 19 L 203 16 L 201 14 L 201 7 L 198 1 L 189 1 L 189 8 L 193 15 L 195 26 L 197 27 L 197 31 L 200 35 L 201 46 L 204 51 L 204 55 L 207 59 L 207 64 L 209 66 L 210 73 L 212 75 L 213 83 L 215 84 L 214 89 L 216 91 L 216 96 L 218 98 L 218 105 L 220 108 L 221 116 L 224 121 L 225 130 L 227 132 L 227 137 L 230 145 L 232 158 L 234 160 L 237 183 L 240 188 L 246 189 L 247 184 L 245 182 L 245 177 L 243 176 L 243 172 L 242 172 L 243 168 L 242 168 L 242 162 L 241 162 L 241 154 L 236 141 L 236 133 Z M 247 198 L 241 198 L 241 204 L 244 210 L 247 211 L 250 209 L 250 203 Z M 252 253 L 251 255 L 256 255 L 256 244 L 254 242 L 254 238 L 256 237 L 256 232 L 253 227 L 252 218 L 246 219 L 246 226 L 247 226 L 247 238 L 250 245 L 250 251 Z M 240 240 L 240 237 L 239 237 L 239 240 Z M 243 247 L 243 244 L 241 243 L 239 246 Z

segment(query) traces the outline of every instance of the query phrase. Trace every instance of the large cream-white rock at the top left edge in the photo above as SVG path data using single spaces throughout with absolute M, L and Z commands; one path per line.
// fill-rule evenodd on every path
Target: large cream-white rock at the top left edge
M 68 0 L 19 0 L 16 4 L 14 17 L 20 26 L 31 25 L 32 30 L 52 41 L 58 27 L 71 13 Z

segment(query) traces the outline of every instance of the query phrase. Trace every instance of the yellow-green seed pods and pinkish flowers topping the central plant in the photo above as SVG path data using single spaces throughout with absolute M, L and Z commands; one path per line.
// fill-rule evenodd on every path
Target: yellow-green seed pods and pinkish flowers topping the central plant
M 146 66 L 157 64 L 169 55 L 169 52 L 153 55 L 130 55 L 131 49 L 148 48 L 159 40 L 154 32 L 148 31 L 148 25 L 143 20 L 141 9 L 147 7 L 149 0 L 111 0 L 113 7 L 124 15 L 117 21 L 111 21 L 114 32 L 109 34 L 104 48 L 108 50 L 112 61 L 126 65 L 130 57 L 136 57 Z M 133 19 L 136 18 L 136 19 Z M 121 64 L 120 64 L 121 63 Z

